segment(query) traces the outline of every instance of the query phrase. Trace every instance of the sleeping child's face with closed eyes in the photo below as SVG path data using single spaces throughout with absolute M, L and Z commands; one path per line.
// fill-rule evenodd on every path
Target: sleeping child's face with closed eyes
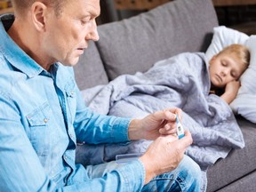
M 238 80 L 244 73 L 245 67 L 234 54 L 222 53 L 210 60 L 210 78 L 214 86 L 223 88 L 231 81 Z

